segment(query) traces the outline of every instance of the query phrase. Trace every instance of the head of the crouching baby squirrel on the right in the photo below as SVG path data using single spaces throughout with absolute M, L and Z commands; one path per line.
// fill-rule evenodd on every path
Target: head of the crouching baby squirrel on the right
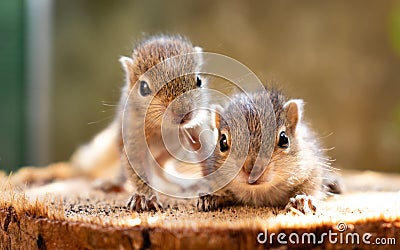
M 267 103 L 268 98 L 272 107 Z M 244 189 L 287 181 L 292 176 L 290 168 L 297 161 L 302 106 L 301 100 L 286 101 L 277 91 L 234 96 L 220 109 L 220 114 L 214 115 L 218 137 L 205 173 L 215 171 L 222 164 L 240 169 L 232 182 Z M 245 123 L 248 132 L 237 129 L 239 119 Z M 262 145 L 263 142 L 272 145 Z M 268 148 L 272 155 L 265 150 Z M 264 172 L 252 179 L 252 171 L 260 170 Z

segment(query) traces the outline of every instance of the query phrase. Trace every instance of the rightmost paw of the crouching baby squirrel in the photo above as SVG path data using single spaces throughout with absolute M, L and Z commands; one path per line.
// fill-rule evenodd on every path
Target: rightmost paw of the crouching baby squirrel
M 315 214 L 317 206 L 315 200 L 310 195 L 299 194 L 294 198 L 290 198 L 288 204 L 285 207 L 286 212 L 293 212 L 295 214 Z

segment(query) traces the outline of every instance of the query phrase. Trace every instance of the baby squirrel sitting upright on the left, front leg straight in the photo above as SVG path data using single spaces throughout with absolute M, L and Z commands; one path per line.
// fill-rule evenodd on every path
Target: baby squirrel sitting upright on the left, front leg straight
M 163 123 L 167 131 L 184 127 L 196 117 L 191 111 L 207 103 L 206 95 L 192 91 L 206 85 L 205 79 L 194 74 L 202 64 L 201 54 L 197 53 L 201 51 L 179 35 L 153 36 L 139 42 L 131 57 L 120 58 L 126 83 L 114 122 L 72 158 L 74 165 L 84 166 L 86 172 L 97 168 L 91 161 L 104 166 L 122 165 L 116 184 L 122 187 L 128 180 L 135 186 L 127 202 L 131 210 L 163 207 L 158 192 L 148 185 L 163 178 L 155 165 L 162 166 L 171 158 L 163 146 L 161 126 Z M 168 119 L 163 120 L 165 117 Z

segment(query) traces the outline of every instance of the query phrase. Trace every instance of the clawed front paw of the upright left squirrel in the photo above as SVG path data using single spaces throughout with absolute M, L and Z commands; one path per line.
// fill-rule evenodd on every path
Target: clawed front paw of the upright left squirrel
M 163 211 L 163 206 L 161 202 L 155 195 L 146 198 L 143 194 L 133 194 L 128 202 L 126 203 L 126 207 L 132 211 Z

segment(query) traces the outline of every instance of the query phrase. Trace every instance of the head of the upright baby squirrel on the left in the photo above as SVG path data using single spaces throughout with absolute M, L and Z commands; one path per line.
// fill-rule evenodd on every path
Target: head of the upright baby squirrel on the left
M 204 98 L 193 91 L 205 86 L 205 79 L 196 74 L 201 51 L 181 36 L 155 36 L 140 42 L 132 57 L 121 57 L 132 108 L 153 124 L 164 114 L 171 124 L 190 120 Z

